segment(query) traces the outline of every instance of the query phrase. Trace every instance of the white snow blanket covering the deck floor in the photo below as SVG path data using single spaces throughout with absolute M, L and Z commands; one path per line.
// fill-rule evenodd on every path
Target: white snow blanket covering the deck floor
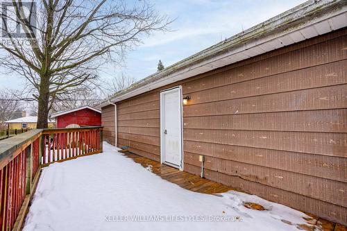
M 229 191 L 198 194 L 162 180 L 103 144 L 104 153 L 43 169 L 24 230 L 298 230 L 309 218 Z M 259 203 L 266 211 L 244 207 Z

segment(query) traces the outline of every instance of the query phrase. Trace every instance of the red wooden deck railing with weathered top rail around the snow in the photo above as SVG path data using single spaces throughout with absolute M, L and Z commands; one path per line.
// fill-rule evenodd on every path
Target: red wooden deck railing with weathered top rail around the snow
M 101 137 L 102 127 L 56 128 L 0 141 L 0 229 L 22 228 L 42 167 L 101 153 Z

